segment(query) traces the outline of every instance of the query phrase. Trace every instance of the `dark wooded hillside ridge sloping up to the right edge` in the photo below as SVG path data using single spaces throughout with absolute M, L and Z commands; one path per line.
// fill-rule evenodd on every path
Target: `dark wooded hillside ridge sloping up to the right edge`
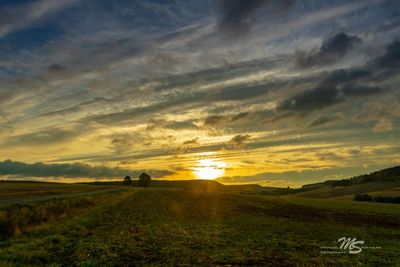
M 400 166 L 384 169 L 381 171 L 373 172 L 370 174 L 363 174 L 354 176 L 349 179 L 342 180 L 328 180 L 323 183 L 305 185 L 305 188 L 313 188 L 320 186 L 350 186 L 357 184 L 365 184 L 370 182 L 382 182 L 382 181 L 400 181 Z

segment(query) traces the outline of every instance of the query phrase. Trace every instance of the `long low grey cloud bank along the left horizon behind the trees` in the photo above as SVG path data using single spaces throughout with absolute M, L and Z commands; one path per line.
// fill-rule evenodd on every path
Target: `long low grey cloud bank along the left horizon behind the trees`
M 88 164 L 46 164 L 43 162 L 24 163 L 5 160 L 0 162 L 0 176 L 17 175 L 26 177 L 66 177 L 66 178 L 119 178 L 125 175 L 139 175 L 143 170 L 130 170 L 122 168 L 110 168 L 103 166 L 91 166 Z M 165 170 L 146 170 L 152 176 L 158 178 L 172 174 Z

